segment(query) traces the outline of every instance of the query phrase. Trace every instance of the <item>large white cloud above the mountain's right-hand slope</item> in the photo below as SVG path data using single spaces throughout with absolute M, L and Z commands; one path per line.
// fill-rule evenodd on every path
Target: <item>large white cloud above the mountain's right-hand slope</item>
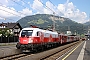
M 57 9 L 64 14 L 64 17 L 70 18 L 76 22 L 84 23 L 88 21 L 86 20 L 86 13 L 77 9 L 72 2 L 58 4 Z

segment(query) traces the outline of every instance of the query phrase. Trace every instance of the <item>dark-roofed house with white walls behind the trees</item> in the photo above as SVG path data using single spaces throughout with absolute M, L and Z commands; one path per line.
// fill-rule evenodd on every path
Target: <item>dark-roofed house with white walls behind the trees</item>
M 8 28 L 14 36 L 19 36 L 19 32 L 21 31 L 22 27 L 19 23 L 0 23 L 0 29 Z

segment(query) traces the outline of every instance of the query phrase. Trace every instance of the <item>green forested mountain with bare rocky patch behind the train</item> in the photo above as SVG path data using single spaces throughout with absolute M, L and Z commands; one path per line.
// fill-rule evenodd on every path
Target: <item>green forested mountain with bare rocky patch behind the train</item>
M 75 32 L 82 34 L 84 33 L 85 26 L 83 24 L 77 23 L 70 20 L 69 18 L 53 16 L 49 14 L 36 14 L 31 16 L 26 16 L 18 20 L 17 22 L 24 27 L 29 27 L 30 25 L 35 25 L 40 28 L 52 28 L 53 20 L 55 22 L 55 28 L 58 32 L 66 33 L 67 30 L 71 30 L 74 34 Z

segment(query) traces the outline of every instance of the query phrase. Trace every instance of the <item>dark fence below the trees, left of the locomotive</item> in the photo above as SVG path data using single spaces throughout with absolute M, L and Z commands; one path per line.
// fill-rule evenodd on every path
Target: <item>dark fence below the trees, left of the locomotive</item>
M 18 36 L 0 36 L 0 43 L 10 43 L 10 42 L 18 42 Z

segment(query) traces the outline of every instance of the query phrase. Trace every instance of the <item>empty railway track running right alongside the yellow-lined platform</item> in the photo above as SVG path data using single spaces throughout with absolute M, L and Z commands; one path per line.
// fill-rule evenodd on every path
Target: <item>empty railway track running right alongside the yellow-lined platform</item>
M 70 50 L 75 48 L 75 46 L 77 46 L 79 43 L 81 43 L 81 41 L 75 42 L 67 47 L 64 47 L 60 51 L 57 51 L 51 55 L 41 58 L 40 60 L 58 60 L 58 57 L 64 55 L 66 52 L 69 52 Z

